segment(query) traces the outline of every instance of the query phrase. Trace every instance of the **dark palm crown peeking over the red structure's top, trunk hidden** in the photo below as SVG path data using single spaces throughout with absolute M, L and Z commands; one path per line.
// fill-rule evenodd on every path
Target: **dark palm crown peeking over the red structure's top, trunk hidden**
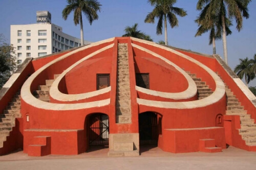
M 153 41 L 150 35 L 147 35 L 140 30 L 138 30 L 138 23 L 135 23 L 132 27 L 125 27 L 124 29 L 125 33 L 122 35 L 122 37 L 134 37 L 134 38 L 139 38 L 139 39 L 144 39 L 147 41 Z

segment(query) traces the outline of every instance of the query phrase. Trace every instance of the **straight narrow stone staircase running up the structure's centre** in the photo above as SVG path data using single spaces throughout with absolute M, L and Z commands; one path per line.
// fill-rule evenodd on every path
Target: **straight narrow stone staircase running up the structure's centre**
M 131 89 L 127 43 L 118 44 L 117 88 L 116 88 L 116 123 L 132 123 Z

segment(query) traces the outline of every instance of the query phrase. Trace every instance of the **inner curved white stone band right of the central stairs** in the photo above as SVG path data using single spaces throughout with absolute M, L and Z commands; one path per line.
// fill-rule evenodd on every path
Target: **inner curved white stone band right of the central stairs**
M 163 60 L 164 62 L 166 62 L 169 65 L 172 65 L 176 70 L 178 70 L 185 77 L 185 79 L 188 82 L 187 89 L 182 92 L 176 92 L 176 93 L 161 92 L 161 91 L 155 91 L 155 90 L 150 90 L 150 89 L 141 88 L 141 87 L 136 86 L 137 91 L 140 91 L 140 92 L 143 92 L 146 94 L 150 94 L 150 95 L 154 95 L 154 96 L 160 96 L 161 98 L 174 99 L 174 100 L 193 98 L 197 94 L 197 85 L 196 85 L 195 81 L 178 65 L 174 64 L 173 62 L 167 60 L 166 58 L 164 58 L 150 50 L 147 50 L 146 48 L 143 48 L 139 45 L 132 43 L 132 46 Z

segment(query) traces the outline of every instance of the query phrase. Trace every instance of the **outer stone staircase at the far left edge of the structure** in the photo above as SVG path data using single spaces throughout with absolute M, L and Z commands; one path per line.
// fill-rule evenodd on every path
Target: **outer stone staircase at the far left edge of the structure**
M 4 147 L 4 141 L 15 127 L 15 118 L 20 114 L 20 90 L 14 95 L 12 102 L 8 104 L 3 114 L 0 114 L 0 149 Z

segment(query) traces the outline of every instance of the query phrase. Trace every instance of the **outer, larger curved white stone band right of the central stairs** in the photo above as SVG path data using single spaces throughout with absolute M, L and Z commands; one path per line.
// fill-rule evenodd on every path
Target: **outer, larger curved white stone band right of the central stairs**
M 214 81 L 216 83 L 215 91 L 211 95 L 209 95 L 207 98 L 204 98 L 201 100 L 189 101 L 189 102 L 159 102 L 159 101 L 152 101 L 152 100 L 145 100 L 145 99 L 137 98 L 137 103 L 139 105 L 157 107 L 157 108 L 192 109 L 192 108 L 205 107 L 205 106 L 214 104 L 214 103 L 218 102 L 219 100 L 221 100 L 223 98 L 223 96 L 225 95 L 225 85 L 224 85 L 223 81 L 221 80 L 221 78 L 214 71 L 212 71 L 209 67 L 202 64 L 201 62 L 199 62 L 185 54 L 177 52 L 176 50 L 159 45 L 155 42 L 145 41 L 145 40 L 141 40 L 138 38 L 132 38 L 132 37 L 131 37 L 131 39 L 134 41 L 142 42 L 144 44 L 157 46 L 159 48 L 162 48 L 163 50 L 177 54 L 178 56 L 183 57 L 183 58 L 197 64 L 198 66 L 202 67 L 205 71 L 207 71 L 208 74 L 214 79 Z

